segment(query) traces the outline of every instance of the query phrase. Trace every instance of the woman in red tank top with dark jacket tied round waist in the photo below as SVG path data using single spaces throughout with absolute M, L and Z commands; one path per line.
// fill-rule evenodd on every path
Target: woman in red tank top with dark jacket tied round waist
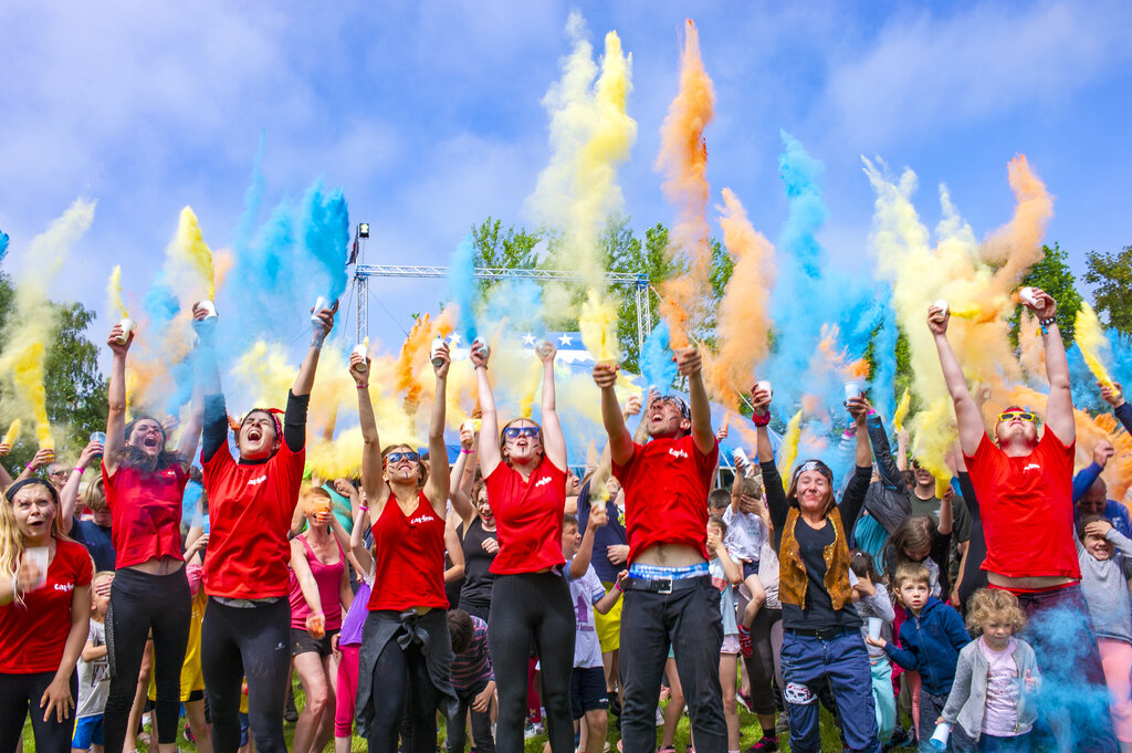
M 374 590 L 358 661 L 357 704 L 358 731 L 369 741 L 370 753 L 396 753 L 406 711 L 404 753 L 435 753 L 436 712 L 451 716 L 456 707 L 448 679 L 455 657 L 444 592 L 447 346 L 435 354 L 437 360 L 429 472 L 410 445 L 392 445 L 381 452 L 369 399 L 369 359 L 363 361 L 358 353 L 350 359 L 365 440 L 361 480 L 374 521 Z

